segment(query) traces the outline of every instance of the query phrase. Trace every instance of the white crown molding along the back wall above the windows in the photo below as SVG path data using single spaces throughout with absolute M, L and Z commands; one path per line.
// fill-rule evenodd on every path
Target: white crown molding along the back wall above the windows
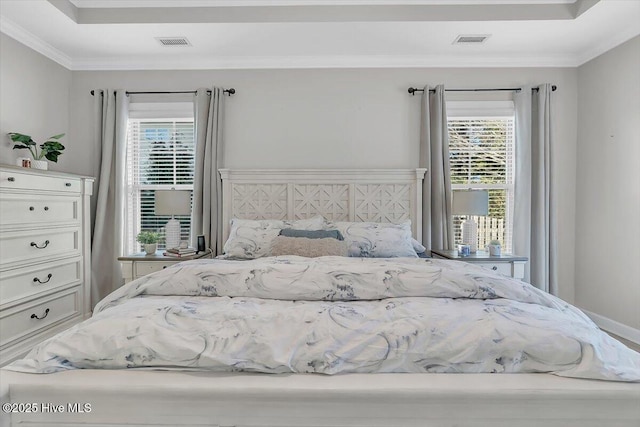
M 93 58 L 73 62 L 73 70 L 228 70 L 304 68 L 535 68 L 575 67 L 568 55 L 543 56 L 268 56 L 218 57 L 215 59 Z

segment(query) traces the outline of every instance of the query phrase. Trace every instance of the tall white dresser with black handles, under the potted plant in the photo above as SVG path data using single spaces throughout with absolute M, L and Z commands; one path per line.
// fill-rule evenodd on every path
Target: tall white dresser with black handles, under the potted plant
M 0 166 L 0 366 L 91 313 L 93 178 Z

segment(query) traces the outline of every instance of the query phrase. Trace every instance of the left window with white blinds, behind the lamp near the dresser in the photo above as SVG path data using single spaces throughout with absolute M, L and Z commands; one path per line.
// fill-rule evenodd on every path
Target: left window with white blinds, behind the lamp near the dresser
M 125 250 L 139 252 L 137 234 L 164 237 L 170 216 L 155 215 L 155 190 L 191 190 L 194 175 L 193 119 L 130 119 L 127 145 L 127 228 Z M 176 216 L 182 240 L 189 239 L 191 218 Z M 164 248 L 164 239 L 158 244 Z

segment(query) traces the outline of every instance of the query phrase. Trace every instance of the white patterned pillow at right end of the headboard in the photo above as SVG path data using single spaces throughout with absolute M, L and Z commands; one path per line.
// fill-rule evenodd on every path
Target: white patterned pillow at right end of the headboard
M 351 257 L 418 257 L 411 243 L 411 221 L 402 224 L 334 222 L 325 227 L 340 230 Z

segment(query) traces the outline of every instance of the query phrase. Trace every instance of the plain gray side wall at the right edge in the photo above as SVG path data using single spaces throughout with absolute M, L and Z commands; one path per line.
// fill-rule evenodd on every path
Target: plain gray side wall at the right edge
M 640 329 L 640 37 L 578 69 L 576 303 Z

